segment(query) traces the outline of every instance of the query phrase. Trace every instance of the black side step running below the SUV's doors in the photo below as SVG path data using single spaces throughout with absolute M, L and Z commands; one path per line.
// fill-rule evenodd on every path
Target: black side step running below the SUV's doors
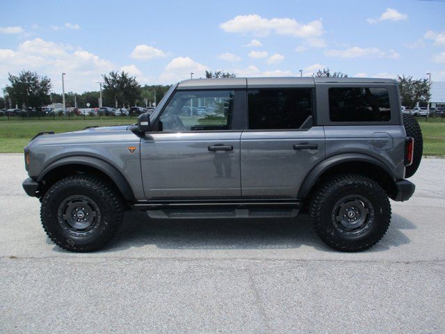
M 149 218 L 289 218 L 300 209 L 298 200 L 150 201 L 133 205 Z

